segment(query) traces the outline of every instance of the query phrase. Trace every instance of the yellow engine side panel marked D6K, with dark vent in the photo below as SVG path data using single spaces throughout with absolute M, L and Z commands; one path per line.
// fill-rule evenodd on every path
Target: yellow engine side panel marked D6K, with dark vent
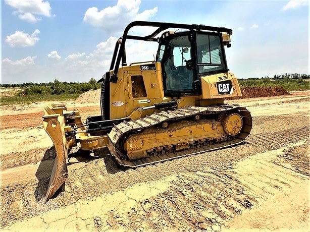
M 117 83 L 110 82 L 110 119 L 128 117 L 139 107 L 169 101 L 164 96 L 160 63 L 140 63 L 119 69 Z M 102 104 L 102 103 L 101 103 Z M 142 112 L 151 114 L 153 110 Z

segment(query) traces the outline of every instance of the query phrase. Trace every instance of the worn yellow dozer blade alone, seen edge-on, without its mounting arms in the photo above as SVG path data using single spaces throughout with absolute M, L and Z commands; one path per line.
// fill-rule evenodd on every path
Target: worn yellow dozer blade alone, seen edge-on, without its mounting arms
M 69 147 L 65 137 L 65 117 L 62 113 L 50 114 L 55 113 L 55 111 L 51 112 L 50 110 L 51 108 L 48 106 L 44 108 L 45 115 L 43 116 L 43 126 L 46 133 L 54 143 L 56 159 L 49 179 L 44 203 L 46 203 L 47 200 L 56 193 L 56 191 L 65 183 L 68 178 L 67 159 Z M 59 110 L 62 111 L 62 109 Z

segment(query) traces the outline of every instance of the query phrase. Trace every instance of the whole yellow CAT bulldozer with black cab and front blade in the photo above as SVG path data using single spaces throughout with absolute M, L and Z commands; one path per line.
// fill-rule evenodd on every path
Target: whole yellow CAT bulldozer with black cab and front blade
M 129 34 L 133 27 L 152 33 Z M 65 184 L 68 153 L 78 143 L 82 151 L 107 147 L 119 165 L 133 168 L 243 143 L 251 114 L 224 103 L 241 96 L 226 62 L 231 35 L 231 29 L 206 25 L 128 24 L 116 41 L 110 70 L 98 81 L 101 115 L 82 122 L 79 110 L 44 107 L 43 126 L 56 149 L 44 203 Z M 127 40 L 158 43 L 156 57 L 127 64 Z

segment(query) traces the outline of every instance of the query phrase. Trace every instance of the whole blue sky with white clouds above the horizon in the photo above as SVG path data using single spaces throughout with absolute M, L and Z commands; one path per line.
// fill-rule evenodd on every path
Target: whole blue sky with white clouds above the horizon
M 231 28 L 226 56 L 239 78 L 309 74 L 308 1 L 2 0 L 1 12 L 2 84 L 98 80 L 135 20 Z M 130 42 L 127 63 L 152 60 L 156 50 Z

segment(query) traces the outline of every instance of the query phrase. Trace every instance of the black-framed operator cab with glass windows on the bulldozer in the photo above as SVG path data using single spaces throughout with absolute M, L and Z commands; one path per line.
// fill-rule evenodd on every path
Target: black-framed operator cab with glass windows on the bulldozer
M 158 40 L 156 61 L 162 64 L 167 96 L 199 95 L 201 76 L 228 71 L 222 33 L 169 31 Z

